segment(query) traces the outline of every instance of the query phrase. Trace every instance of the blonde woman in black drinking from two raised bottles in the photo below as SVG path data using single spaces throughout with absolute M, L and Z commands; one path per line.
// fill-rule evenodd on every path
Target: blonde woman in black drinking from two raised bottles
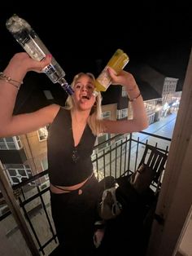
M 143 130 L 148 126 L 146 111 L 133 75 L 124 70 L 116 75 L 108 68 L 112 84 L 125 86 L 128 91 L 132 120 L 101 120 L 101 95 L 94 96 L 94 76 L 90 73 L 74 77 L 74 94 L 68 96 L 66 108 L 52 104 L 34 113 L 13 116 L 16 95 L 25 74 L 41 73 L 50 60 L 51 55 L 38 62 L 24 52 L 18 53 L 1 73 L 0 136 L 22 135 L 50 125 L 47 141 L 50 198 L 59 243 L 68 248 L 70 255 L 90 255 L 97 220 L 98 181 L 91 161 L 96 136 Z

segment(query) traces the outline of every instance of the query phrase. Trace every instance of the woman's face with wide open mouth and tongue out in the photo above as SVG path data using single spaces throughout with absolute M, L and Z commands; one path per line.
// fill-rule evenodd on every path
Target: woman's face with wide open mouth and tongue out
M 72 97 L 77 108 L 88 110 L 93 107 L 95 96 L 93 95 L 94 81 L 91 77 L 86 74 L 78 77 L 73 86 L 73 90 L 74 94 Z

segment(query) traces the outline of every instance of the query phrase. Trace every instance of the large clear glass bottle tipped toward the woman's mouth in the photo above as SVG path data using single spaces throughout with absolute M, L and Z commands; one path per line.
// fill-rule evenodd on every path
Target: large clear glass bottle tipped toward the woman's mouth
M 11 18 L 7 20 L 6 26 L 16 41 L 20 43 L 20 46 L 22 46 L 34 60 L 41 61 L 46 55 L 50 54 L 50 51 L 46 48 L 44 43 L 41 42 L 37 33 L 35 33 L 26 20 L 20 18 L 18 15 L 12 15 Z M 44 68 L 44 72 L 52 82 L 59 82 L 68 95 L 72 95 L 72 87 L 68 85 L 68 82 L 64 78 L 65 72 L 53 56 L 51 63 Z

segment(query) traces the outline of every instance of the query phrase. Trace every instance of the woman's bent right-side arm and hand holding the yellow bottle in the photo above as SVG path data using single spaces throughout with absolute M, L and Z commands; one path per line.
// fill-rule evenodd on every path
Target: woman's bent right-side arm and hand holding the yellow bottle
M 108 68 L 108 72 L 111 76 L 112 84 L 125 86 L 133 108 L 133 119 L 122 121 L 103 120 L 104 132 L 128 133 L 146 129 L 148 126 L 146 108 L 133 75 L 124 70 L 119 75 L 116 75 L 112 68 Z

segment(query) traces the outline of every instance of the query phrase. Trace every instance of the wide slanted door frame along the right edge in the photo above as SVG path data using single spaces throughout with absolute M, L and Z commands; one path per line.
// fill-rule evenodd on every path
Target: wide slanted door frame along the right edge
M 147 256 L 173 256 L 181 239 L 192 205 L 192 51 L 185 74 L 181 104 L 172 135 L 164 181 L 156 214 L 164 225 L 154 221 Z

